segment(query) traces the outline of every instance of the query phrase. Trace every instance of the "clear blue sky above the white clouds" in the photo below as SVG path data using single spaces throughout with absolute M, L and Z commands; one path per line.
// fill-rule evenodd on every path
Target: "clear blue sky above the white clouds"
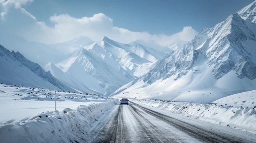
M 51 25 L 53 14 L 81 18 L 104 13 L 114 26 L 150 34 L 174 34 L 184 26 L 199 31 L 225 20 L 253 0 L 36 0 L 26 6 Z

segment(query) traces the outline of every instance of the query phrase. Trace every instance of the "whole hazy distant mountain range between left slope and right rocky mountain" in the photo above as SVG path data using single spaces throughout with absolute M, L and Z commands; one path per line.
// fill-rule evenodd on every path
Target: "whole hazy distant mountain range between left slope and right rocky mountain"
M 15 39 L 16 42 L 12 42 Z M 73 89 L 103 95 L 110 95 L 122 85 L 145 74 L 170 52 L 166 48 L 153 49 L 138 42 L 122 44 L 106 36 L 100 42 L 80 36 L 47 45 L 6 35 L 1 36 L 0 42 L 37 62 Z

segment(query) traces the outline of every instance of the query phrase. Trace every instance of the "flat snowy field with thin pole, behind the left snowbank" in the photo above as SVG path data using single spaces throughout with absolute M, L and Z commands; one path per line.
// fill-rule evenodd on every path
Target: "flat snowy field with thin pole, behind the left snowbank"
M 58 111 L 106 101 L 105 97 L 87 93 L 0 84 L 0 124 L 6 121 L 10 123 L 20 119 L 26 120 L 38 113 L 54 111 L 55 93 Z

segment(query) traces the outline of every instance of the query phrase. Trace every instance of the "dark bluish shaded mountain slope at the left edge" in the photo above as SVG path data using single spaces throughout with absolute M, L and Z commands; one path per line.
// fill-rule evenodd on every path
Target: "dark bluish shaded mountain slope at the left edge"
M 1 83 L 74 91 L 19 52 L 10 52 L 1 45 L 0 69 Z

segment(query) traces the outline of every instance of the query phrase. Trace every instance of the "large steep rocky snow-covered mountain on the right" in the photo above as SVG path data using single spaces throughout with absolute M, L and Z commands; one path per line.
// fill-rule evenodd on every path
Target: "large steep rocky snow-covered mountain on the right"
M 174 48 L 146 75 L 114 94 L 210 102 L 255 89 L 255 6 L 253 2 L 213 28 L 203 28 L 192 41 Z

